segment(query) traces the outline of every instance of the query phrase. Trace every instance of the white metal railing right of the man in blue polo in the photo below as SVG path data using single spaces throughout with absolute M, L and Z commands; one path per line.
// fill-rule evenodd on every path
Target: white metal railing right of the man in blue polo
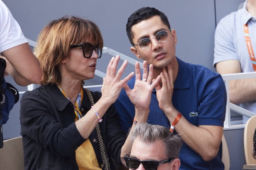
M 243 73 L 235 73 L 235 74 L 224 74 L 222 75 L 222 78 L 225 82 L 226 86 L 226 91 L 227 91 L 227 106 L 226 106 L 226 118 L 224 122 L 224 129 L 235 129 L 235 128 L 241 128 L 244 127 L 244 124 L 239 124 L 239 125 L 231 125 L 230 121 L 230 110 L 243 115 L 243 116 L 248 116 L 252 117 L 255 116 L 256 114 L 253 112 L 250 112 L 246 109 L 243 109 L 237 105 L 234 105 L 233 103 L 230 103 L 230 95 L 229 95 L 229 80 L 238 80 L 238 79 L 252 79 L 256 78 L 256 72 L 243 72 Z

